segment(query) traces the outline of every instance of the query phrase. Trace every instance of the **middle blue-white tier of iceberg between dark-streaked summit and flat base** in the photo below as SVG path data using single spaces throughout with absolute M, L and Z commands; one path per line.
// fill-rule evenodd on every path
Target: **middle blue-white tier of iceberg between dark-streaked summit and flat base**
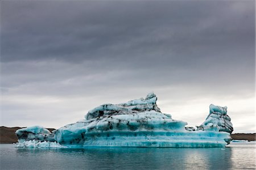
M 106 114 L 97 118 L 66 125 L 55 131 L 55 140 L 64 144 L 82 144 L 98 136 L 138 135 L 162 131 L 184 132 L 187 122 L 172 120 L 166 114 L 131 112 L 129 114 Z M 142 132 L 142 133 L 140 133 Z

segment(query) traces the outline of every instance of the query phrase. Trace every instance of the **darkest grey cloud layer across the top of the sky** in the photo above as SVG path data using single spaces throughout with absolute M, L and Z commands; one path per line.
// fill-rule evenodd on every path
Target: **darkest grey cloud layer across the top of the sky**
M 252 48 L 254 6 L 247 4 L 250 1 L 3 2 L 2 61 L 156 58 L 152 53 L 190 61 L 195 54 L 204 58 L 203 52 Z M 237 12 L 240 5 L 246 8 Z

